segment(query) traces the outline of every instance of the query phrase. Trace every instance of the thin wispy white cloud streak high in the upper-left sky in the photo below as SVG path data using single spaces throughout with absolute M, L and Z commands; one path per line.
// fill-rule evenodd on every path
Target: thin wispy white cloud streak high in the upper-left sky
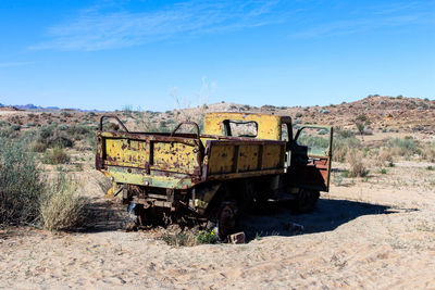
M 190 1 L 154 11 L 83 10 L 75 18 L 54 25 L 48 40 L 30 49 L 103 50 L 179 37 L 257 27 L 285 17 L 279 1 Z

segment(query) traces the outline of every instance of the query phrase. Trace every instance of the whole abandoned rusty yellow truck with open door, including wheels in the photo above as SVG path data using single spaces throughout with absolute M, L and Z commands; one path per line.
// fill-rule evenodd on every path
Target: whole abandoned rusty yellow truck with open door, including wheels
M 103 131 L 104 118 L 123 131 Z M 328 191 L 333 128 L 295 127 L 289 116 L 208 113 L 202 134 L 192 122 L 172 133 L 138 133 L 104 115 L 96 167 L 112 180 L 108 194 L 122 193 L 138 224 L 195 219 L 225 239 L 239 211 L 290 200 L 306 212 Z

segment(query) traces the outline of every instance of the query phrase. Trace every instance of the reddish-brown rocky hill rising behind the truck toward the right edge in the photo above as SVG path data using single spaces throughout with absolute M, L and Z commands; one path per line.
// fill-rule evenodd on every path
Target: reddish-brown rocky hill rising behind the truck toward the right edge
M 435 100 L 403 96 L 369 96 L 355 102 L 310 106 L 251 106 L 236 103 L 213 103 L 182 110 L 190 115 L 201 112 L 261 112 L 291 116 L 294 124 L 322 124 L 356 130 L 363 123 L 371 131 L 435 133 Z M 161 113 L 169 119 L 170 115 Z M 166 116 L 165 116 L 166 115 Z

